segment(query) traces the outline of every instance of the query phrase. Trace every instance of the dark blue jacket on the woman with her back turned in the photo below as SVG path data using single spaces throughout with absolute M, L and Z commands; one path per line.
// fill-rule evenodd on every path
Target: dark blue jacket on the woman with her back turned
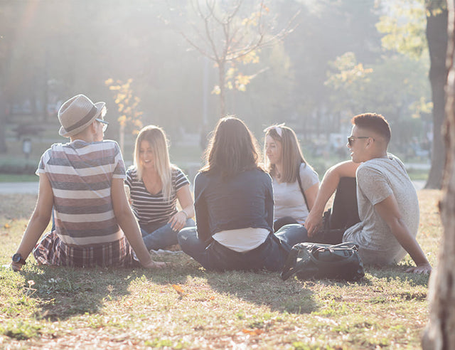
M 198 238 L 208 242 L 223 230 L 266 228 L 273 232 L 273 190 L 269 174 L 243 171 L 230 179 L 198 173 L 194 179 Z

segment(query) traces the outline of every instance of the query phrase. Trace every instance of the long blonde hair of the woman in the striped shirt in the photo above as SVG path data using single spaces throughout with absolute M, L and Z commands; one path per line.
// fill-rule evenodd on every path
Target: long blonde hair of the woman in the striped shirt
M 175 167 L 169 160 L 168 142 L 166 133 L 161 127 L 156 125 L 147 125 L 143 127 L 137 135 L 136 144 L 134 145 L 134 166 L 137 169 L 137 177 L 142 180 L 144 174 L 143 166 L 139 158 L 141 142 L 147 141 L 150 144 L 154 154 L 155 168 L 163 184 L 164 198 L 170 198 L 173 192 L 172 186 L 172 169 Z

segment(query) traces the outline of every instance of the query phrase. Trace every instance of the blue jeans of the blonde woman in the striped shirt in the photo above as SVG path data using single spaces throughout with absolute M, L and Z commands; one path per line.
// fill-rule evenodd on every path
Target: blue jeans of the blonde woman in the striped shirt
M 194 220 L 188 218 L 184 228 L 195 225 Z M 141 233 L 147 250 L 159 250 L 178 243 L 178 231 L 174 231 L 170 223 L 148 226 L 146 229 L 141 227 Z

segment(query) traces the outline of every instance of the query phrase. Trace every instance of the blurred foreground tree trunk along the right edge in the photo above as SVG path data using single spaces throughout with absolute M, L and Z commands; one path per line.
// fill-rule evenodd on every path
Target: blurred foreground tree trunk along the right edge
M 447 147 L 444 167 L 443 198 L 440 202 L 444 235 L 439 251 L 437 270 L 429 286 L 429 323 L 422 339 L 423 349 L 455 349 L 455 66 L 454 17 L 455 0 L 448 0 L 450 67 L 446 85 L 446 123 L 444 139 Z

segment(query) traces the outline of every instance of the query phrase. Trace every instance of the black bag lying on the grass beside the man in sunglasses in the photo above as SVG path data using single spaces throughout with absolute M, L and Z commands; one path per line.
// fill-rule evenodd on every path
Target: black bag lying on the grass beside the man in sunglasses
M 292 247 L 281 276 L 287 280 L 294 274 L 301 280 L 331 278 L 357 281 L 365 272 L 355 243 L 298 243 Z

